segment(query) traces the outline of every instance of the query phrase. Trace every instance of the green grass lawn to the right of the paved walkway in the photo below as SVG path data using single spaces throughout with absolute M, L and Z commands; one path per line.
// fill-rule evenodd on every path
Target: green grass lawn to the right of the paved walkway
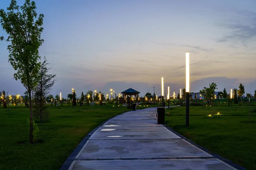
M 227 106 L 217 103 L 215 114 L 212 107 L 190 106 L 189 127 L 185 126 L 186 107 L 166 109 L 166 125 L 191 139 L 196 144 L 233 161 L 247 170 L 256 169 L 256 113 L 249 122 L 248 104 Z M 256 111 L 256 104 L 251 104 Z M 220 115 L 217 115 L 217 113 Z

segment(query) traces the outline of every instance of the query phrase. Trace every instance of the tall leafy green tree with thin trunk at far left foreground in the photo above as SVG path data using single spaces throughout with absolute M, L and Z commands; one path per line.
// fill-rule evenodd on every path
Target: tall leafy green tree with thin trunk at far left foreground
M 35 2 L 25 0 L 23 6 L 18 6 L 16 0 L 11 0 L 7 13 L 0 10 L 0 22 L 3 30 L 8 34 L 8 38 L 0 37 L 0 40 L 11 42 L 7 49 L 9 50 L 9 62 L 17 71 L 14 78 L 20 79 L 21 83 L 29 92 L 29 110 L 30 110 L 30 130 L 29 141 L 33 143 L 33 114 L 32 114 L 32 96 L 31 91 L 38 82 L 38 72 L 40 69 L 40 56 L 38 49 L 44 42 L 41 39 L 43 32 L 43 14 L 35 11 Z M 38 19 L 37 19 L 38 17 Z M 37 19 L 37 20 L 36 20 Z

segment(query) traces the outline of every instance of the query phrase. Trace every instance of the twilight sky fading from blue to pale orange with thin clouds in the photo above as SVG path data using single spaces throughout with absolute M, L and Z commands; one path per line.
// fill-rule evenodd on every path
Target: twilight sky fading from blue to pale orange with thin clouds
M 1 0 L 6 11 L 10 0 Z M 24 0 L 17 0 L 23 5 Z M 185 87 L 185 52 L 190 52 L 190 91 L 209 83 L 217 91 L 256 90 L 255 0 L 35 0 L 44 14 L 44 44 L 54 96 L 75 88 L 118 94 L 127 88 L 171 94 Z M 0 36 L 6 32 L 0 28 Z M 13 79 L 7 42 L 0 42 L 0 89 L 23 94 Z

